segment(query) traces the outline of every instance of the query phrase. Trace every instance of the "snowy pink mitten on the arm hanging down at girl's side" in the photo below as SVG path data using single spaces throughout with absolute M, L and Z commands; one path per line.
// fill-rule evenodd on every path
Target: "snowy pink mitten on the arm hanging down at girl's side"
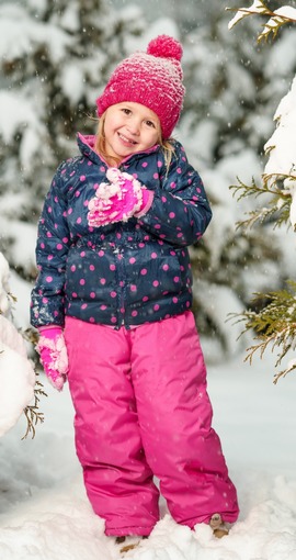
M 62 328 L 58 326 L 41 328 L 39 335 L 36 350 L 44 371 L 52 385 L 61 391 L 68 373 L 68 355 Z

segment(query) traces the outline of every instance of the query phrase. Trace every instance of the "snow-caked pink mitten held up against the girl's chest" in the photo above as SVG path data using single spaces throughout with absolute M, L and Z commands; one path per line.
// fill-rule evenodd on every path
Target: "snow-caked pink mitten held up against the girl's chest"
M 93 227 L 127 222 L 147 203 L 147 197 L 143 197 L 145 187 L 132 175 L 111 167 L 106 178 L 110 182 L 102 182 L 89 202 L 88 222 Z

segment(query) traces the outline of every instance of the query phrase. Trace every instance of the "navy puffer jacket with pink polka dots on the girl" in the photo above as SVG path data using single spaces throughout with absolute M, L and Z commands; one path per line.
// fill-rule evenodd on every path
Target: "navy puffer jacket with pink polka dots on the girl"
M 127 328 L 192 306 L 187 247 L 205 232 L 212 211 L 198 173 L 179 142 L 166 167 L 162 149 L 126 158 L 121 169 L 153 191 L 148 212 L 101 227 L 88 224 L 88 203 L 107 165 L 78 135 L 81 155 L 64 161 L 38 224 L 38 278 L 32 291 L 35 327 L 64 326 L 65 315 Z

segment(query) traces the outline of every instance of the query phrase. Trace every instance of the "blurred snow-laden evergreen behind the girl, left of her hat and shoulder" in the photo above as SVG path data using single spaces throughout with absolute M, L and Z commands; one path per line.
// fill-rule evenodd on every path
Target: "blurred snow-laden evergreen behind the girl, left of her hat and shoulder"
M 95 99 L 143 22 L 103 0 L 8 2 L 0 22 L 0 32 L 10 30 L 0 63 L 1 249 L 30 280 L 34 254 L 22 258 L 20 238 L 35 236 L 54 170 L 77 152 L 76 133 L 94 133 Z

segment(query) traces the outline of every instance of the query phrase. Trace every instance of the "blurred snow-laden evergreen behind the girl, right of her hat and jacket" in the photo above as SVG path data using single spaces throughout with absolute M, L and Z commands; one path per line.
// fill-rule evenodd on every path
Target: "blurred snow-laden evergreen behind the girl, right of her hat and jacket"
M 206 21 L 204 3 L 194 8 L 196 21 L 202 23 L 184 37 L 190 49 L 180 131 L 185 143 L 191 138 L 187 153 L 201 170 L 214 211 L 205 237 L 191 251 L 197 325 L 208 336 L 214 333 L 224 349 L 234 351 L 239 344 L 234 343 L 229 324 L 219 313 L 220 302 L 228 296 L 232 309 L 248 307 L 253 291 L 266 290 L 270 279 L 272 289 L 281 287 L 285 269 L 280 266 L 277 272 L 283 257 L 272 220 L 259 222 L 248 234 L 236 228 L 250 201 L 234 202 L 228 186 L 241 169 L 248 180 L 251 173 L 260 179 L 276 99 L 285 92 L 285 79 L 291 79 L 296 67 L 294 60 L 294 66 L 286 64 L 285 75 L 275 68 L 272 76 L 269 49 L 264 44 L 254 48 L 250 41 L 260 31 L 260 23 L 250 18 L 239 32 L 228 33 L 229 13 L 219 1 L 209 4 Z M 285 47 L 285 38 L 286 34 L 278 37 L 278 52 Z

